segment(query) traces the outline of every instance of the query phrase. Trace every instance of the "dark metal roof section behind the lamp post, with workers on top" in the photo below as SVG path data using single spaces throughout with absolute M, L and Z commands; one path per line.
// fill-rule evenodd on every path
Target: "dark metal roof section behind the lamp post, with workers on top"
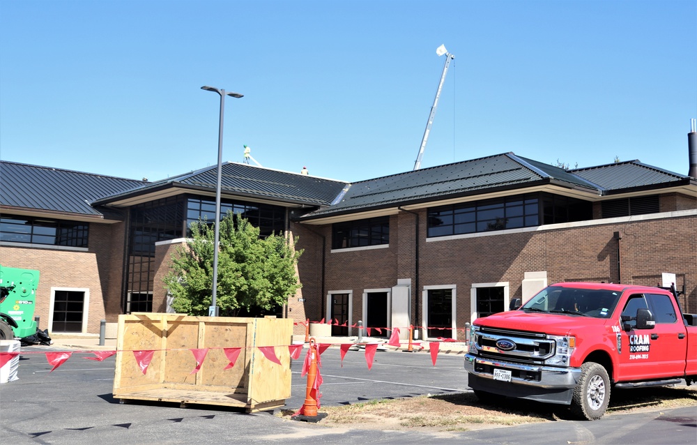
M 96 204 L 108 204 L 135 195 L 153 193 L 165 188 L 215 190 L 217 165 L 194 172 L 148 183 L 137 190 L 129 190 L 99 199 Z M 298 173 L 256 167 L 240 163 L 224 163 L 220 189 L 222 194 L 262 197 L 279 202 L 328 206 L 346 186 L 346 182 L 323 179 Z

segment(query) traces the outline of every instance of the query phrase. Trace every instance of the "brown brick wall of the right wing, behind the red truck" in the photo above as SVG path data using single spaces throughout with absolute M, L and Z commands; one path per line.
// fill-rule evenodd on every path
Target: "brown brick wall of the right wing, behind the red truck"
M 426 242 L 425 211 L 417 213 L 418 289 L 413 273 L 416 240 L 411 213 L 391 217 L 389 248 L 328 252 L 326 288 L 353 289 L 354 321 L 363 317 L 364 289 L 389 288 L 397 285 L 399 278 L 411 278 L 413 302 L 417 297 L 421 301 L 424 286 L 456 285 L 457 326 L 463 327 L 470 321 L 473 283 L 509 282 L 510 298 L 521 298 L 521 283 L 530 271 L 546 271 L 550 283 L 588 280 L 641 285 L 657 285 L 661 272 L 671 272 L 677 275 L 679 288 L 686 285 L 684 308 L 697 312 L 697 216 Z M 325 232 L 330 235 L 330 226 Z M 614 232 L 622 237 L 621 277 Z M 413 315 L 415 310 L 413 303 Z

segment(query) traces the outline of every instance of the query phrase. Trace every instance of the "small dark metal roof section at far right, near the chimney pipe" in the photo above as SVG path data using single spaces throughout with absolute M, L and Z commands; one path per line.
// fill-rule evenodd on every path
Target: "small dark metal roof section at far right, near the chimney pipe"
M 588 179 L 605 190 L 656 186 L 687 178 L 668 170 L 642 164 L 638 160 L 574 169 L 570 173 Z

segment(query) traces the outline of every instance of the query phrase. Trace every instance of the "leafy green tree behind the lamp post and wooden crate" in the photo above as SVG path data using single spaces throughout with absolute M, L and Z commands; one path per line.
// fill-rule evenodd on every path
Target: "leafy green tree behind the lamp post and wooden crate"
M 191 239 L 171 255 L 164 285 L 174 297 L 176 312 L 208 315 L 215 232 L 206 221 L 190 228 Z M 282 234 L 260 238 L 259 228 L 228 213 L 220 220 L 216 294 L 220 315 L 261 315 L 287 303 L 301 287 L 296 276 L 300 255 L 302 250 L 294 250 Z

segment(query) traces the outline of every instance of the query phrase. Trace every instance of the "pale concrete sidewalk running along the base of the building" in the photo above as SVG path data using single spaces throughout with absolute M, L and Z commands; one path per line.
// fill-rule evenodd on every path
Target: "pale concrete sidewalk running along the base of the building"
M 330 344 L 330 347 L 339 347 L 341 344 L 355 344 L 357 337 L 314 337 L 317 344 Z M 52 347 L 64 347 L 66 349 L 84 349 L 86 351 L 114 351 L 116 350 L 116 338 L 105 338 L 104 345 L 100 345 L 99 335 L 95 334 L 53 334 L 51 335 Z M 399 348 L 387 345 L 386 338 L 363 337 L 360 345 L 366 343 L 378 343 L 378 349 L 382 351 L 406 351 L 408 344 L 402 343 Z M 438 342 L 438 340 L 435 340 Z M 305 342 L 305 335 L 293 335 L 293 343 Z M 413 352 L 429 352 L 429 340 L 413 342 Z M 438 342 L 439 354 L 465 354 L 467 344 L 465 342 Z

